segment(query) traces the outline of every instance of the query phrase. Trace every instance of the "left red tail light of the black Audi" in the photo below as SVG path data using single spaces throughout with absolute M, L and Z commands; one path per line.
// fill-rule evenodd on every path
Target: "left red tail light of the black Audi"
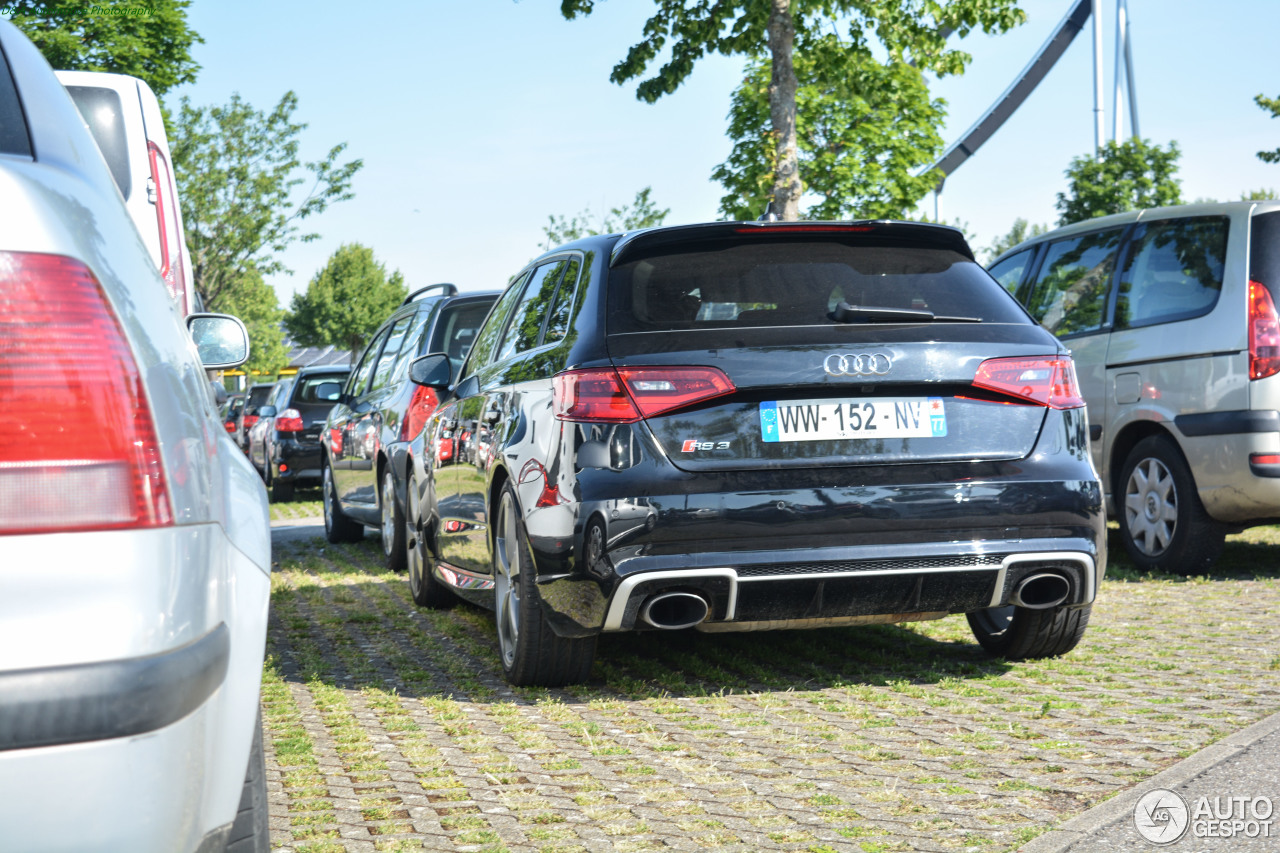
M 556 418 L 623 424 L 736 391 L 716 368 L 591 368 L 567 370 L 553 383 Z

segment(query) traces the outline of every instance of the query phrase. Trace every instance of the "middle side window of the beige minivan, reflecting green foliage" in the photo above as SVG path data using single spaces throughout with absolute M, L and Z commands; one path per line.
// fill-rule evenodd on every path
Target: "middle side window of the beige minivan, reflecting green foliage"
M 1032 316 L 1059 336 L 1101 329 L 1123 234 L 1114 228 L 1050 243 L 1027 300 Z

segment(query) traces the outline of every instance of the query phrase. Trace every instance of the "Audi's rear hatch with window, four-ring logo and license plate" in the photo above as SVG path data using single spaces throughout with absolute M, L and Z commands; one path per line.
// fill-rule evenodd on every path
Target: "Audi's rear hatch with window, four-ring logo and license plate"
M 644 419 L 671 461 L 709 471 L 1027 456 L 1046 407 L 974 378 L 991 359 L 1062 350 L 963 240 L 905 223 L 804 228 L 721 225 L 616 252 L 613 365 L 714 368 L 735 388 Z

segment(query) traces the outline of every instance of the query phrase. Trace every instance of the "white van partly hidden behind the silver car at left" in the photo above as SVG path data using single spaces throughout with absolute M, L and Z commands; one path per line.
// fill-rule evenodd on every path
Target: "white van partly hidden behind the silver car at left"
M 169 137 L 155 92 L 127 74 L 56 73 L 97 142 L 169 295 L 183 315 L 202 310 L 192 286 Z

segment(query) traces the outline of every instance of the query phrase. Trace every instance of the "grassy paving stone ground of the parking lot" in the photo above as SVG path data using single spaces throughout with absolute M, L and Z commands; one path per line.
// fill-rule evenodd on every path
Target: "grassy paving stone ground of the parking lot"
M 1010 850 L 1280 708 L 1280 560 L 1107 580 L 1082 646 L 963 616 L 603 638 L 509 688 L 492 617 L 413 606 L 372 539 L 278 547 L 264 671 L 280 850 Z

